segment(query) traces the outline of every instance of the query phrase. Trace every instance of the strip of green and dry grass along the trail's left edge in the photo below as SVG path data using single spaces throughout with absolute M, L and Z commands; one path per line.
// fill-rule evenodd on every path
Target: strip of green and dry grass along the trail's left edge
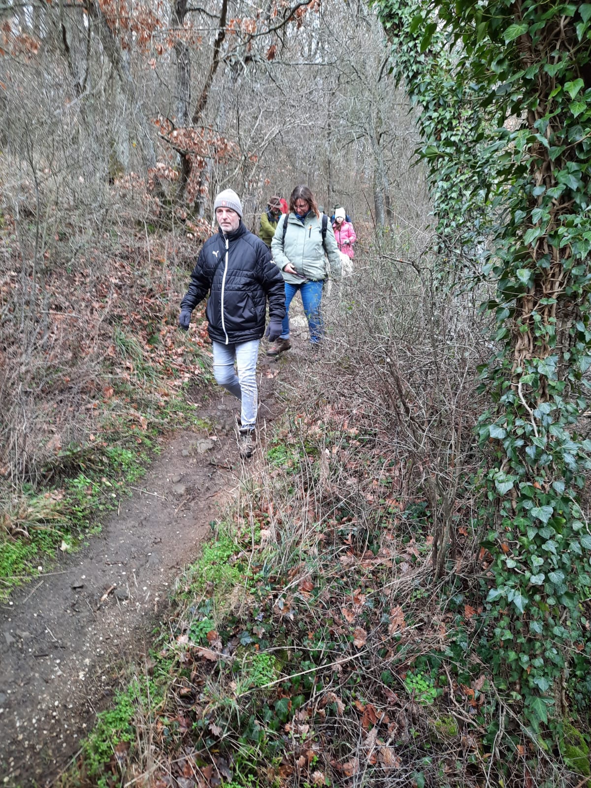
M 117 332 L 116 332 L 117 334 Z M 123 335 L 120 332 L 120 344 Z M 139 344 L 126 340 L 125 348 Z M 137 345 L 137 346 L 136 346 Z M 98 426 L 87 440 L 60 447 L 38 468 L 34 480 L 0 484 L 0 600 L 13 589 L 50 571 L 63 553 L 99 533 L 102 519 L 117 508 L 159 452 L 159 438 L 171 429 L 203 426 L 187 399 L 187 385 L 165 389 L 153 372 L 143 379 L 115 381 L 100 403 Z M 201 356 L 195 354 L 194 361 Z M 201 385 L 207 385 L 203 374 Z

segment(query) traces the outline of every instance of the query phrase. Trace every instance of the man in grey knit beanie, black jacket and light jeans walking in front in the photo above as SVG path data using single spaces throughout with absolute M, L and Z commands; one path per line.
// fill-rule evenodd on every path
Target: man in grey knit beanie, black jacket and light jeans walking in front
M 269 247 L 246 229 L 236 191 L 221 191 L 214 202 L 219 230 L 203 244 L 191 284 L 180 302 L 179 325 L 188 330 L 191 312 L 207 299 L 208 332 L 217 383 L 236 396 L 240 410 L 240 456 L 255 448 L 258 410 L 256 364 L 269 301 L 269 340 L 281 334 L 285 314 L 283 277 Z M 236 364 L 236 370 L 234 370 Z

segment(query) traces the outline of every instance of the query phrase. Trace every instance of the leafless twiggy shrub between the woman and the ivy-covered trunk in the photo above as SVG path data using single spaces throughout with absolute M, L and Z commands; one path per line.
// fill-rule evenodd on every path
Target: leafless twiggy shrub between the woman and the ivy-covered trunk
M 323 412 L 347 414 L 348 427 L 391 465 L 385 475 L 396 496 L 426 497 L 433 574 L 441 578 L 461 552 L 454 523 L 470 507 L 467 487 L 478 470 L 476 368 L 490 349 L 481 294 L 446 290 L 425 246 L 400 233 L 381 254 L 358 254 L 355 273 L 327 299 L 325 355 L 304 364 L 292 394 L 298 400 L 306 386 Z

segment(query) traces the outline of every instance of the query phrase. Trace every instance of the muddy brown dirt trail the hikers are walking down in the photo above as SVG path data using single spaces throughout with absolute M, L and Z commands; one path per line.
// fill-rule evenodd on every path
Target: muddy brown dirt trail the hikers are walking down
M 261 355 L 259 420 L 272 421 L 279 407 L 278 367 Z M 100 536 L 0 609 L 4 785 L 51 785 L 109 702 L 122 668 L 147 652 L 171 585 L 243 473 L 233 432 L 238 403 L 221 391 L 199 408 L 214 429 L 180 432 L 163 444 Z

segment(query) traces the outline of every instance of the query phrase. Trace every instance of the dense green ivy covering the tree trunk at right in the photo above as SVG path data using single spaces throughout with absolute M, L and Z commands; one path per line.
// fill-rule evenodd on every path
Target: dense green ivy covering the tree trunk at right
M 496 290 L 483 309 L 497 351 L 480 370 L 493 556 L 480 651 L 543 734 L 591 688 L 591 3 L 374 6 L 418 107 L 452 274 Z

